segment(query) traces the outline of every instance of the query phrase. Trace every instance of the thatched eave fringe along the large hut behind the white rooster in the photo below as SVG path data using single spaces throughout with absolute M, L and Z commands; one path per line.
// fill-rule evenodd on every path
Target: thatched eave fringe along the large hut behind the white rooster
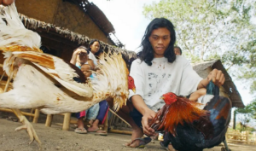
M 77 43 L 77 45 L 83 44 L 85 46 L 88 46 L 91 40 L 85 35 L 79 34 L 77 32 L 72 32 L 68 29 L 62 28 L 61 26 L 55 26 L 44 21 L 29 18 L 26 15 L 20 15 L 20 20 L 23 22 L 24 26 L 26 26 L 27 29 L 31 29 L 39 33 L 48 32 L 54 34 L 57 37 L 66 38 L 70 41 L 73 41 Z M 136 58 L 136 53 L 134 51 L 119 49 L 118 47 L 105 44 L 102 41 L 101 46 L 101 49 L 105 52 L 120 52 L 123 55 L 125 61 L 130 61 L 131 59 Z

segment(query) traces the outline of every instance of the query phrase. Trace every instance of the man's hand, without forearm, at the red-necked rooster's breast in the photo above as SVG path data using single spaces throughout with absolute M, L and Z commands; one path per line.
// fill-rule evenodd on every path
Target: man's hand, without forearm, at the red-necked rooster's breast
M 151 109 L 148 109 L 148 112 L 144 113 L 142 124 L 143 124 L 143 133 L 147 136 L 154 136 L 154 129 L 149 127 L 148 123 L 150 120 L 154 119 L 155 112 Z

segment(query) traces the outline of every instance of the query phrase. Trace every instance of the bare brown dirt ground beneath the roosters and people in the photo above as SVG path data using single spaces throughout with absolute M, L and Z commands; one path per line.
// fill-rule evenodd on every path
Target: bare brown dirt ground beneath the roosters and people
M 39 150 L 37 142 L 28 145 L 29 137 L 26 131 L 15 132 L 20 126 L 19 122 L 0 119 L 0 151 L 35 151 Z M 45 127 L 44 123 L 32 124 L 43 143 L 42 150 L 48 151 L 163 151 L 159 141 L 150 142 L 146 148 L 126 148 L 122 144 L 129 142 L 129 135 L 108 133 L 108 136 L 95 136 L 94 134 L 76 134 L 73 128 L 70 131 L 61 131 L 60 125 Z M 256 151 L 255 146 L 242 144 L 229 144 L 232 151 Z M 222 146 L 205 151 L 220 151 Z

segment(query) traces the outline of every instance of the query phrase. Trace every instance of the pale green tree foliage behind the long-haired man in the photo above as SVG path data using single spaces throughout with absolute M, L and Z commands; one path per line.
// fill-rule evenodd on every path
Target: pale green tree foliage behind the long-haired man
M 255 0 L 161 0 L 144 5 L 143 14 L 171 20 L 191 62 L 220 59 L 228 70 L 239 68 L 236 78 L 256 92 Z

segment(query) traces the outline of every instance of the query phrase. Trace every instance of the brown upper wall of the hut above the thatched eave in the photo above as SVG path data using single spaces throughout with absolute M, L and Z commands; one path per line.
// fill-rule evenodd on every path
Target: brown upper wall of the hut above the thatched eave
M 84 11 L 79 9 L 76 4 L 63 2 L 62 0 L 22 0 L 15 1 L 15 3 L 20 14 L 113 45 L 113 42 L 90 19 L 90 16 L 84 14 Z

